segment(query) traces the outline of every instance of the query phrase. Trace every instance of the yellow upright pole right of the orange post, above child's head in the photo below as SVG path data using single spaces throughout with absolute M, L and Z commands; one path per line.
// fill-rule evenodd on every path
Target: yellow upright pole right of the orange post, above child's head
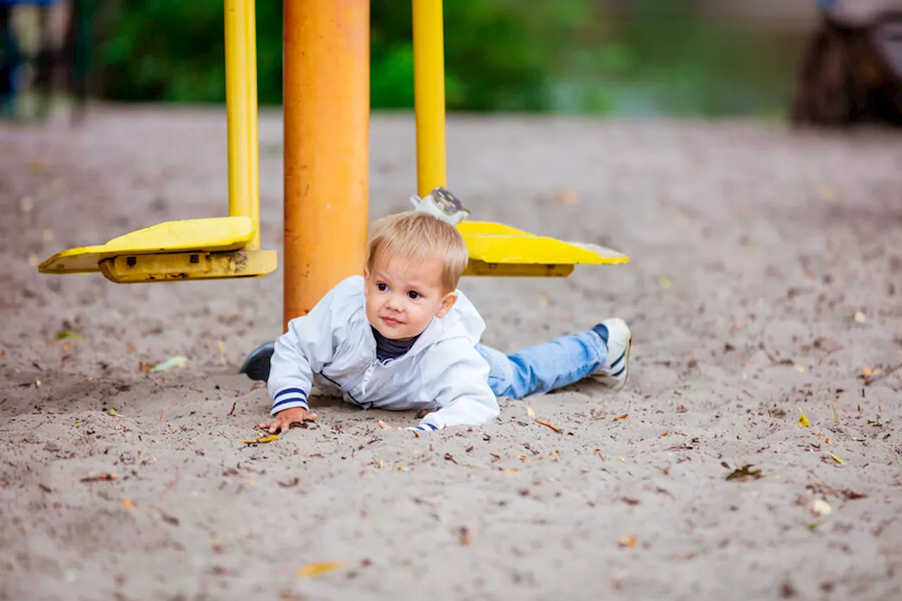
M 413 88 L 417 114 L 417 189 L 446 185 L 445 37 L 442 0 L 413 0 Z

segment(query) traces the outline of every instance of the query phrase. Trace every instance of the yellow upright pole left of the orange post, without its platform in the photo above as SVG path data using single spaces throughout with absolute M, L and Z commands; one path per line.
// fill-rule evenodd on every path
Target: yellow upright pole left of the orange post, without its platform
M 226 125 L 228 213 L 251 217 L 260 248 L 260 176 L 257 144 L 257 34 L 254 0 L 226 2 Z

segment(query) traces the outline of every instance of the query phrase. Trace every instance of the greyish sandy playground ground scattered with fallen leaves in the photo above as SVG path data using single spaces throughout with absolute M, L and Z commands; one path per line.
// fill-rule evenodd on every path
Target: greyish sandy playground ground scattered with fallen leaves
M 281 116 L 260 131 L 281 249 Z M 620 315 L 629 386 L 502 399 L 490 427 L 419 439 L 376 426 L 413 415 L 318 400 L 318 426 L 245 446 L 270 402 L 236 367 L 280 333 L 281 273 L 120 286 L 33 266 L 224 215 L 224 114 L 0 124 L 0 598 L 902 598 L 902 138 L 513 117 L 448 134 L 478 217 L 632 259 L 465 280 L 484 341 Z M 374 117 L 371 217 L 407 206 L 413 140 L 410 116 Z

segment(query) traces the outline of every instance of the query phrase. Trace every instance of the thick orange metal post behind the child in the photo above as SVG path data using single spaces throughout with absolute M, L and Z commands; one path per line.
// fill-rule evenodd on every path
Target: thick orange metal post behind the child
M 284 325 L 363 273 L 368 210 L 369 0 L 285 0 Z

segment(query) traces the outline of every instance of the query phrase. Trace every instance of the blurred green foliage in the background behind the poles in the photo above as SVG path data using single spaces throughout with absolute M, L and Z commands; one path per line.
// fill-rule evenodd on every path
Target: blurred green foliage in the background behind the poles
M 773 114 L 801 34 L 705 23 L 682 0 L 446 0 L 450 110 Z M 258 96 L 281 103 L 281 0 L 257 0 Z M 115 0 L 95 64 L 115 100 L 225 100 L 222 0 Z M 410 0 L 373 0 L 374 108 L 413 106 Z

